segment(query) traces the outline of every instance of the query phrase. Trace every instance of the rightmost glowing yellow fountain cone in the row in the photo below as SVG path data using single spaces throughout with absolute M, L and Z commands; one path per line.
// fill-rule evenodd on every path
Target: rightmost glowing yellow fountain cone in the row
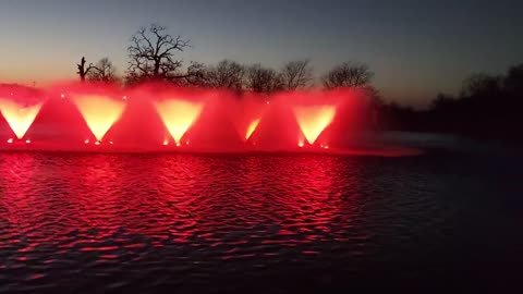
M 300 106 L 294 115 L 308 144 L 314 144 L 324 130 L 332 122 L 336 106 Z M 303 143 L 302 143 L 303 144 Z

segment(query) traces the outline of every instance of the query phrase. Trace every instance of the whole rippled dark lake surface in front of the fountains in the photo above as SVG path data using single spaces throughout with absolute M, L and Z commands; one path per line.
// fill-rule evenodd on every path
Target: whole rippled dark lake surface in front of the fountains
M 507 287 L 523 265 L 518 163 L 0 154 L 0 292 Z

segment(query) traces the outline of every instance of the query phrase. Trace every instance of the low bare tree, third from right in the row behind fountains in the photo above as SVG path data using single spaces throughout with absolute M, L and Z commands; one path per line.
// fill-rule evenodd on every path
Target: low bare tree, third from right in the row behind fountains
M 283 89 L 283 82 L 275 70 L 254 64 L 247 69 L 245 88 L 252 91 L 270 94 Z

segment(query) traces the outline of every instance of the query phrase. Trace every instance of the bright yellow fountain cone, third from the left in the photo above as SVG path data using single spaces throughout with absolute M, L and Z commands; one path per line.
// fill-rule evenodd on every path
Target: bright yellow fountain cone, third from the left
M 156 101 L 155 107 L 167 131 L 177 144 L 180 144 L 183 135 L 199 117 L 203 108 L 199 102 L 178 99 Z

